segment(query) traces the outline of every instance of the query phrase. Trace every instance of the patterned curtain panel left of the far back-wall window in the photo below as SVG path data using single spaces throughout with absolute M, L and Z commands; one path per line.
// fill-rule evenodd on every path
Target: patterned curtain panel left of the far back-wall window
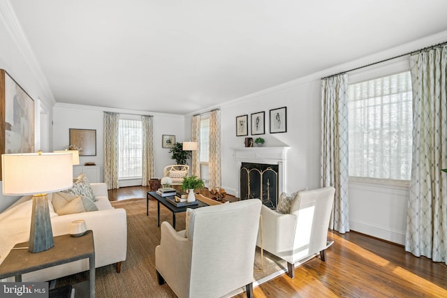
M 118 113 L 104 112 L 104 182 L 108 189 L 119 188 L 118 122 Z

